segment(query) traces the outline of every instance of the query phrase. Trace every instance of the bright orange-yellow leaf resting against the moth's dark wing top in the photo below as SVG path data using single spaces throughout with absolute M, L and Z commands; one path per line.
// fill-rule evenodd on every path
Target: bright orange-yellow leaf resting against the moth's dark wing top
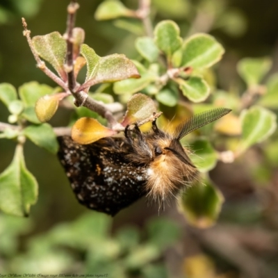
M 116 131 L 101 125 L 97 120 L 90 117 L 81 117 L 72 126 L 72 139 L 79 144 L 85 145 L 101 138 L 117 134 Z

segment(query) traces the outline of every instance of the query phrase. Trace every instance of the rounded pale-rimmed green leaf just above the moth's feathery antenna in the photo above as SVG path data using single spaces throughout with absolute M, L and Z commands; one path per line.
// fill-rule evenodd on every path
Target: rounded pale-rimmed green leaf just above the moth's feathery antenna
M 183 95 L 190 101 L 201 102 L 209 95 L 208 84 L 199 76 L 191 76 L 188 80 L 179 79 L 178 83 Z

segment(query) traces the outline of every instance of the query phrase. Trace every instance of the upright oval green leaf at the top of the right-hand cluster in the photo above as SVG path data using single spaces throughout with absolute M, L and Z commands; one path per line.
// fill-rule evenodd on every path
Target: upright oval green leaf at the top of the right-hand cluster
M 154 28 L 154 42 L 168 58 L 179 49 L 182 39 L 179 36 L 179 26 L 172 20 L 163 20 Z

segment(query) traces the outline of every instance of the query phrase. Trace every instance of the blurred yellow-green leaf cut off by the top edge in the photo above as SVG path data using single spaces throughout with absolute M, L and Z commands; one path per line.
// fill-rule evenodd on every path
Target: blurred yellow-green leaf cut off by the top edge
M 102 2 L 95 12 L 95 19 L 108 20 L 117 17 L 131 17 L 134 15 L 133 10 L 129 10 L 118 0 L 106 0 Z

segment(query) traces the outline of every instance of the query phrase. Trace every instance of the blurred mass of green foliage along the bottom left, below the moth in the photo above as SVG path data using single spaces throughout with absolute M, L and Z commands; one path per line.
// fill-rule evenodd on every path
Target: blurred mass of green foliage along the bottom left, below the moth
M 1 238 L 5 236 L 7 240 L 0 240 L 0 255 L 15 254 L 18 236 L 30 230 L 31 223 L 15 221 L 6 215 L 0 219 Z M 167 218 L 150 220 L 144 240 L 136 227 L 123 227 L 112 237 L 111 225 L 112 218 L 107 215 L 85 213 L 73 222 L 60 223 L 47 233 L 33 237 L 26 245 L 25 254 L 20 252 L 6 265 L 15 272 L 72 273 L 78 266 L 81 272 L 107 272 L 111 277 L 129 277 L 132 272 L 142 277 L 149 277 L 149 273 L 157 277 L 165 270 L 157 260 L 166 247 L 177 243 L 181 234 L 177 224 Z M 6 233 L 9 229 L 13 232 Z M 69 248 L 71 252 L 66 252 Z M 76 261 L 81 252 L 83 259 Z

